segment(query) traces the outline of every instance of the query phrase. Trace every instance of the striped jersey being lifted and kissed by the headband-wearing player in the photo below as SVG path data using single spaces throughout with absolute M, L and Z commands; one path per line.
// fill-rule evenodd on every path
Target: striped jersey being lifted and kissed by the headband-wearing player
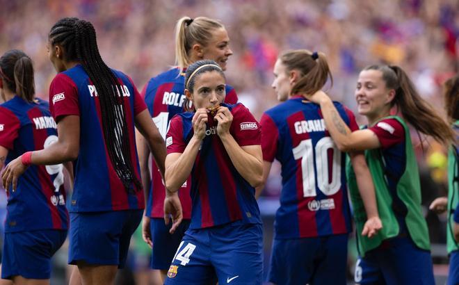
M 242 104 L 227 106 L 233 121 L 230 133 L 239 146 L 260 145 L 261 132 L 255 117 Z M 193 112 L 179 113 L 170 121 L 167 134 L 168 154 L 183 153 L 193 137 Z M 191 229 L 214 227 L 242 220 L 261 223 L 255 188 L 243 179 L 228 156 L 209 118 L 206 136 L 191 171 Z

